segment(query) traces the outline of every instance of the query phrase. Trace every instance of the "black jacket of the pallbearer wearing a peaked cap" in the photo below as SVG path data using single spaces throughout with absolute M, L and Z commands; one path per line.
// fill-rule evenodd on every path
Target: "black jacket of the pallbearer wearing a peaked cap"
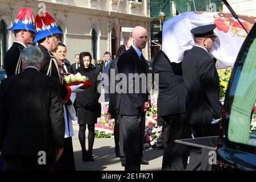
M 183 78 L 188 90 L 187 120 L 192 125 L 209 125 L 221 117 L 219 78 L 212 57 L 194 46 L 184 54 Z

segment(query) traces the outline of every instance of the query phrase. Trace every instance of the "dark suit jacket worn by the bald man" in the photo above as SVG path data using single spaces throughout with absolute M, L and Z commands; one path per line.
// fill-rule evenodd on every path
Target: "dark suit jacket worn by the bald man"
M 137 52 L 131 47 L 126 52 L 122 53 L 122 55 L 118 59 L 117 63 L 118 73 L 123 73 L 126 75 L 126 83 L 127 89 L 124 89 L 122 93 L 117 94 L 117 105 L 116 108 L 118 109 L 118 114 L 120 115 L 137 115 L 141 116 L 142 111 L 139 107 L 144 104 L 144 102 L 149 102 L 148 100 L 148 92 L 142 92 L 142 85 L 143 88 L 146 87 L 147 89 L 147 81 L 139 81 L 139 91 L 135 93 L 135 86 L 134 84 L 129 84 L 129 82 L 134 82 L 133 77 L 129 79 L 129 73 L 144 73 L 147 75 L 148 73 L 148 66 L 146 60 L 139 59 Z M 118 82 L 118 84 L 121 82 Z M 117 85 L 118 85 L 117 84 Z M 129 93 L 129 85 L 133 90 L 133 93 Z M 147 90 L 146 90 L 147 91 Z M 126 92 L 126 93 L 125 93 Z

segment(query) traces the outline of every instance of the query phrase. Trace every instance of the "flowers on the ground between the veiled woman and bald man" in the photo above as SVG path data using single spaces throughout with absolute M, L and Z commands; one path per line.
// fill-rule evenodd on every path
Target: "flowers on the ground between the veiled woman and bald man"
M 114 119 L 110 119 L 108 107 L 108 104 L 103 105 L 103 108 L 101 109 L 101 118 L 97 119 L 95 125 L 96 138 L 110 138 L 114 134 Z

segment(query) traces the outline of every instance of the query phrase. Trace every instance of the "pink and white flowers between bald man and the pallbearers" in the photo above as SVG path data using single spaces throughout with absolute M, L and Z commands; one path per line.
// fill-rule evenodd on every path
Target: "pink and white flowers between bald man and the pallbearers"
M 162 148 L 162 126 L 157 125 L 157 102 L 151 95 L 151 107 L 146 111 L 145 148 Z

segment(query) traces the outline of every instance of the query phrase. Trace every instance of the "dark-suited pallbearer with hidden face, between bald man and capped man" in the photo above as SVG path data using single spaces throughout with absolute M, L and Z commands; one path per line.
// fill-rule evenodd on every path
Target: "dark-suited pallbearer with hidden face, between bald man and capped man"
M 162 43 L 162 32 L 159 33 Z M 164 146 L 162 170 L 184 171 L 187 166 L 189 147 L 175 143 L 177 139 L 191 138 L 185 120 L 185 89 L 181 63 L 171 63 L 162 50 L 153 61 L 155 78 L 158 74 L 158 117 L 162 119 L 166 145 Z

